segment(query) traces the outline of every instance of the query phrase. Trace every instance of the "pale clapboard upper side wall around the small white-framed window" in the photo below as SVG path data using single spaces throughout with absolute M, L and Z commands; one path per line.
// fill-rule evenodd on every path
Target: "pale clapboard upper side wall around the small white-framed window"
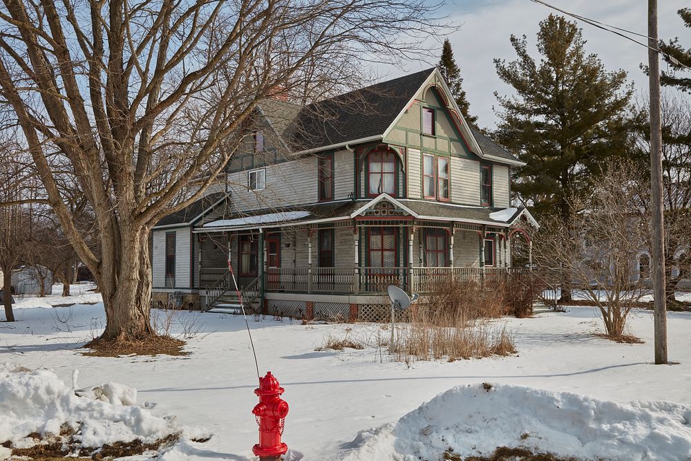
M 265 167 L 266 187 L 247 187 L 247 171 L 228 175 L 231 200 L 240 211 L 287 207 L 317 201 L 316 157 L 301 158 Z

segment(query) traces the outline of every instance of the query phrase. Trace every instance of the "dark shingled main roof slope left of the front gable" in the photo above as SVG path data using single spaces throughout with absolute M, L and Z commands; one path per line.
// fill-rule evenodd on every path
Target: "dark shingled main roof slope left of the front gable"
M 305 106 L 292 126 L 296 151 L 384 134 L 434 68 Z

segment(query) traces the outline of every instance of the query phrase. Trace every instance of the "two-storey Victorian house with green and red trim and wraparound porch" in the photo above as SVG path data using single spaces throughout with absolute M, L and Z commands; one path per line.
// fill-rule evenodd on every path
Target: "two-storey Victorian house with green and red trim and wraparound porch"
M 537 227 L 510 205 L 522 162 L 468 126 L 436 69 L 256 114 L 218 184 L 154 227 L 155 297 L 234 305 L 230 263 L 245 304 L 376 319 L 388 284 L 508 272 L 512 236 Z

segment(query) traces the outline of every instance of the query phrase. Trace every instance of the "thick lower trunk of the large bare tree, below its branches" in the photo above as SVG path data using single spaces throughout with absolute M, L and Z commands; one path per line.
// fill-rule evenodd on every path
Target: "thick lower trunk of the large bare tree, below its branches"
M 118 247 L 103 252 L 104 270 L 97 275 L 106 310 L 106 328 L 100 339 L 147 339 L 155 335 L 149 318 L 151 261 L 148 232 L 142 229 L 140 232 L 121 233 L 120 236 Z M 104 276 L 104 273 L 111 276 Z

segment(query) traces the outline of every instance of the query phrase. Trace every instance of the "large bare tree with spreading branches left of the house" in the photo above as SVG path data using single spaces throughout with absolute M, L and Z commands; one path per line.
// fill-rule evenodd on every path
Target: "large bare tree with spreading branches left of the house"
M 423 0 L 3 0 L 1 95 L 103 294 L 101 339 L 154 335 L 149 232 L 215 180 L 258 102 L 315 66 L 337 74 L 354 55 L 419 50 L 436 10 Z M 97 251 L 61 194 L 64 175 L 94 210 Z

